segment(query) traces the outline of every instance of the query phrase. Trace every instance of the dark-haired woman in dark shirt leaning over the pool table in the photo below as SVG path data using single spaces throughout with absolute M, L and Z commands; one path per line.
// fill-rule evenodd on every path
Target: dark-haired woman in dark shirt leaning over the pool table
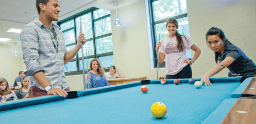
M 216 63 L 218 64 L 218 61 L 220 63 L 205 73 L 201 79 L 205 86 L 211 85 L 209 77 L 214 76 L 225 67 L 229 69 L 228 77 L 256 76 L 256 65 L 239 47 L 226 39 L 221 29 L 210 28 L 206 33 L 206 43 L 214 51 Z

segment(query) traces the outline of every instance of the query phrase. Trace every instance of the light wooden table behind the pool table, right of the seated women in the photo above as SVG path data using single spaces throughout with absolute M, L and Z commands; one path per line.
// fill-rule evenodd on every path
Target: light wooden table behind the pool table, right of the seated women
M 130 82 L 141 81 L 141 80 L 146 80 L 146 77 L 108 79 L 108 82 L 109 82 L 109 85 L 117 85 L 117 84 L 124 84 L 124 83 L 130 83 Z

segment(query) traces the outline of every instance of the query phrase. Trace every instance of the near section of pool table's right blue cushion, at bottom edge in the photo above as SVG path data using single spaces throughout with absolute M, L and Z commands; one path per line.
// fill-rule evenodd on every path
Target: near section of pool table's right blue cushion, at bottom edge
M 238 98 L 229 98 L 227 100 L 224 100 L 221 105 L 214 112 L 212 112 L 202 123 L 221 123 L 221 121 L 225 118 L 225 116 L 233 107 L 233 105 L 237 102 L 237 100 Z

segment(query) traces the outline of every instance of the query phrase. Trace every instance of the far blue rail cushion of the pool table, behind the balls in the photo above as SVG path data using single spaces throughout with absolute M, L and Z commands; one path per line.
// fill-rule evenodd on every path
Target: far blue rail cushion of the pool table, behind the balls
M 166 79 L 166 84 L 174 84 L 175 79 Z M 179 79 L 180 83 L 188 83 L 189 79 Z M 219 82 L 240 82 L 241 77 L 228 77 L 228 78 L 210 78 L 211 83 L 219 83 Z M 152 84 L 161 84 L 161 80 L 151 80 Z M 201 79 L 195 79 L 196 81 L 201 81 Z

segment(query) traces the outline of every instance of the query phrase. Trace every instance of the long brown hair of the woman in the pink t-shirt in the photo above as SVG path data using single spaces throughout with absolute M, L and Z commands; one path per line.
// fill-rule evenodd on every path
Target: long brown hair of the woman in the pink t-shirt
M 175 26 L 177 27 L 177 29 L 179 28 L 179 23 L 175 18 L 167 19 L 166 24 L 165 24 L 165 28 L 167 28 L 168 23 L 174 23 Z M 181 37 L 184 37 L 186 40 L 187 40 L 187 38 L 184 35 L 180 35 L 177 32 L 177 29 L 176 29 L 176 33 L 175 33 L 176 38 L 177 38 L 177 45 L 178 45 L 177 48 L 178 48 L 179 52 L 183 52 L 183 49 L 184 49 L 185 46 L 184 46 L 184 42 L 183 42 Z

